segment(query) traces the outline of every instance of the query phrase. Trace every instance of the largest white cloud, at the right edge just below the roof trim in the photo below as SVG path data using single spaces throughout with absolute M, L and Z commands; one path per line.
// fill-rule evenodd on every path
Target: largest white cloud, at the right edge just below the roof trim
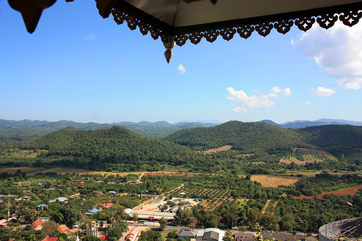
M 345 26 L 337 21 L 328 30 L 318 24 L 298 38 L 292 45 L 329 76 L 337 78 L 341 89 L 362 88 L 362 23 Z

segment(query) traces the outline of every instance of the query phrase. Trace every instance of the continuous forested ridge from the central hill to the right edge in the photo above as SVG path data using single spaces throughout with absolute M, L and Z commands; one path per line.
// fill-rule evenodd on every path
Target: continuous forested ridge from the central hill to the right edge
M 362 148 L 362 127 L 350 125 L 285 129 L 262 122 L 229 121 L 224 124 L 175 132 L 163 140 L 194 150 L 232 145 L 244 153 L 273 152 L 304 147 L 313 149 Z

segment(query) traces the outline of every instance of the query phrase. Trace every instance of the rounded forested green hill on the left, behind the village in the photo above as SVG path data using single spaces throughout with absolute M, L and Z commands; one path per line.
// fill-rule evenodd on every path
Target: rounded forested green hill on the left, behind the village
M 73 162 L 68 165 L 86 162 L 88 166 L 85 167 L 106 167 L 104 163 L 110 163 L 109 166 L 116 165 L 117 169 L 127 165 L 128 169 L 129 166 L 139 169 L 143 164 L 179 166 L 184 163 L 197 164 L 206 159 L 188 147 L 145 138 L 120 126 L 97 130 L 60 130 L 24 144 L 23 147 L 48 150 L 43 157 L 71 157 L 68 160 Z M 96 169 L 99 170 L 98 167 Z

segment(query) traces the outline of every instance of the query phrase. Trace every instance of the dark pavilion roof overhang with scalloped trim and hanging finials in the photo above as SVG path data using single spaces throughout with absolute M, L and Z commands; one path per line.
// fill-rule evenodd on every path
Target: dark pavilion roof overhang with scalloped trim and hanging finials
M 57 0 L 8 0 L 21 12 L 32 33 L 42 11 Z M 74 0 L 65 0 L 67 2 Z M 160 38 L 169 62 L 175 45 L 202 38 L 214 42 L 219 36 L 229 41 L 235 35 L 247 39 L 253 32 L 267 36 L 272 29 L 289 32 L 293 25 L 307 31 L 313 24 L 328 29 L 336 21 L 352 27 L 362 18 L 362 0 L 95 0 L 99 13 L 112 13 L 118 24 L 143 35 Z

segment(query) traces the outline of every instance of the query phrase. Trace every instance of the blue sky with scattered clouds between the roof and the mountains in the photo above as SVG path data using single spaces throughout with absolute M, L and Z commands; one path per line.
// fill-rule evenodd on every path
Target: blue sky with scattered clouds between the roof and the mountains
M 173 48 L 57 1 L 33 34 L 0 0 L 0 119 L 362 121 L 362 23 Z

